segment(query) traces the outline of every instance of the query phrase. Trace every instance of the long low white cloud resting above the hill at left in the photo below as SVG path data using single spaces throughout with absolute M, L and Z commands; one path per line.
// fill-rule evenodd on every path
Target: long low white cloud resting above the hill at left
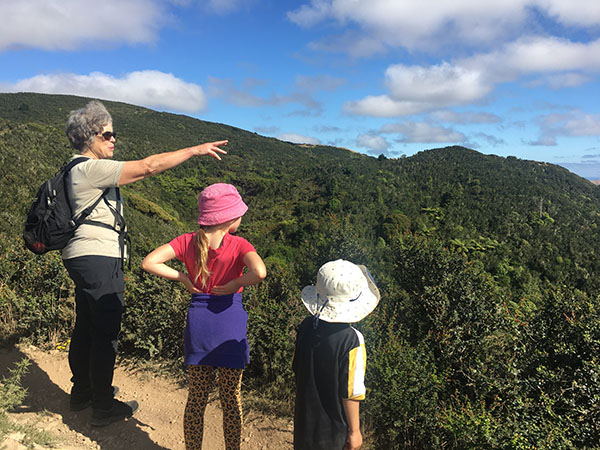
M 100 72 L 37 75 L 14 85 L 5 84 L 2 90 L 80 95 L 187 113 L 206 107 L 202 87 L 154 70 L 131 72 L 121 78 Z

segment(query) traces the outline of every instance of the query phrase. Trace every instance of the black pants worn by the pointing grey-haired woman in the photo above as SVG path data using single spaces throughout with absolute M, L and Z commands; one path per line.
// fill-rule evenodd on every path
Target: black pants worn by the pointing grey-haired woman
M 71 398 L 91 398 L 93 408 L 108 409 L 123 314 L 122 261 L 81 256 L 64 260 L 64 265 L 75 283 L 76 319 L 69 348 Z

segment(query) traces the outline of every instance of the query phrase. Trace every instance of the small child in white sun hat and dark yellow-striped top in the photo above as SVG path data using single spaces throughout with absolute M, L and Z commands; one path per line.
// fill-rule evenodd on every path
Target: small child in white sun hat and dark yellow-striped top
M 316 286 L 306 286 L 301 298 L 311 316 L 298 328 L 292 363 L 294 449 L 358 449 L 366 352 L 349 324 L 375 309 L 379 290 L 366 267 L 338 259 L 319 269 Z

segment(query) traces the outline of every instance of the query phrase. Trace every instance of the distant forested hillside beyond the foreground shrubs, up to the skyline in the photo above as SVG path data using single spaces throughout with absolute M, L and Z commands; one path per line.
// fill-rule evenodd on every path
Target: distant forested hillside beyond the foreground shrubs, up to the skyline
M 64 124 L 69 112 L 86 101 L 72 96 L 0 95 L 4 191 L 0 206 L 9 214 L 11 231 L 18 231 L 40 181 L 72 154 Z M 287 262 L 297 262 L 302 254 L 314 255 L 320 240 L 338 232 L 332 224 L 348 221 L 362 247 L 388 241 L 392 231 L 408 230 L 439 236 L 465 251 L 487 249 L 489 253 L 494 247 L 491 259 L 510 256 L 544 277 L 569 277 L 578 286 L 591 281 L 579 271 L 596 269 L 600 191 L 559 166 L 487 156 L 461 147 L 408 158 L 372 158 L 105 103 L 119 135 L 119 159 L 229 139 L 229 154 L 222 162 L 189 161 L 124 189 L 130 206 L 141 213 L 130 219 L 132 234 L 150 238 L 151 245 L 163 239 L 161 231 L 172 234 L 172 225 L 193 228 L 197 193 L 210 183 L 226 181 L 238 186 L 250 204 L 245 233 L 267 256 Z M 309 278 L 322 262 L 302 265 Z M 565 271 L 561 264 L 572 267 Z

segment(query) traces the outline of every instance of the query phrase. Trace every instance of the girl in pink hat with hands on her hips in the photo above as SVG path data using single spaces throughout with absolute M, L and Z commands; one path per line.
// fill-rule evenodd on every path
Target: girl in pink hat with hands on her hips
M 250 361 L 242 306 L 244 286 L 266 276 L 265 265 L 248 241 L 233 236 L 248 210 L 237 189 L 208 186 L 198 199 L 200 229 L 176 237 L 151 252 L 142 268 L 182 282 L 192 294 L 185 327 L 189 394 L 183 429 L 186 449 L 201 449 L 204 410 L 219 372 L 223 433 L 227 449 L 239 449 L 242 431 L 242 372 Z M 177 258 L 187 274 L 168 267 Z M 244 268 L 248 270 L 244 273 Z

